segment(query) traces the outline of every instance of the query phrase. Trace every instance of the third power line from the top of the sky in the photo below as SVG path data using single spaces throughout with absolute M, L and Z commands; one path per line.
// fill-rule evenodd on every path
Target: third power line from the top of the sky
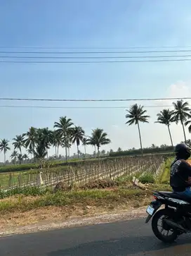
M 180 58 L 191 55 L 162 56 L 0 56 L 2 59 L 146 59 L 146 58 Z

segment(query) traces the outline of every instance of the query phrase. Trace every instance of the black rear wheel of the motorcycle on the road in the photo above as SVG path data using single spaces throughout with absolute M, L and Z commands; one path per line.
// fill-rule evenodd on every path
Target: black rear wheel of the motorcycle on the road
M 166 227 L 164 227 L 164 225 L 162 224 L 163 230 L 161 230 L 161 231 L 159 231 L 159 227 L 158 227 L 158 221 L 162 217 L 171 219 L 171 217 L 172 217 L 171 212 L 169 212 L 166 209 L 160 209 L 158 212 L 156 212 L 156 214 L 154 214 L 154 216 L 152 218 L 152 231 L 153 231 L 154 235 L 157 236 L 157 238 L 159 240 L 162 240 L 162 242 L 173 243 L 176 240 L 176 238 L 178 238 L 178 231 L 176 231 L 176 229 L 169 228 L 169 231 L 171 230 L 171 232 L 172 232 L 171 235 L 164 236 L 162 234 L 162 231 L 166 230 Z

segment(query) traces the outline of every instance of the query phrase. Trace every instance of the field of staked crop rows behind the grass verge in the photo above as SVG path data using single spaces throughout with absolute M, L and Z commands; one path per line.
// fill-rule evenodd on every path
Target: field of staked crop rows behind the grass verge
M 84 184 L 98 178 L 117 178 L 123 175 L 132 176 L 136 173 L 156 173 L 164 161 L 162 156 L 124 157 L 108 159 L 107 161 L 92 161 L 88 164 L 67 166 L 62 169 L 46 169 L 41 173 L 10 173 L 0 180 L 2 189 L 15 188 L 26 185 L 54 185 L 63 181 Z

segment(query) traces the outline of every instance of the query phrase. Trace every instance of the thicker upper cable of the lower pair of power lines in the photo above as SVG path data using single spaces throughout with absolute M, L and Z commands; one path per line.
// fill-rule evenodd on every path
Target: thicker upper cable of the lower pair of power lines
M 140 98 L 140 99 L 34 99 L 34 98 L 6 98 L 0 97 L 0 100 L 11 101 L 37 101 L 37 102 L 138 102 L 138 101 L 158 101 L 158 100 L 175 100 L 191 99 L 191 97 L 169 97 L 169 98 Z

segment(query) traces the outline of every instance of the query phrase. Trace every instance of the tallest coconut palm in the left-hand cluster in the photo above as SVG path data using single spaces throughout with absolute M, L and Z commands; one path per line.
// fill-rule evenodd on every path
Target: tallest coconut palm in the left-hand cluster
M 54 128 L 58 130 L 58 133 L 62 136 L 62 139 L 64 140 L 64 145 L 65 145 L 65 157 L 67 159 L 67 145 L 70 140 L 70 133 L 71 133 L 71 128 L 73 126 L 72 119 L 67 118 L 66 116 L 61 116 L 59 119 L 59 122 L 54 123 Z

